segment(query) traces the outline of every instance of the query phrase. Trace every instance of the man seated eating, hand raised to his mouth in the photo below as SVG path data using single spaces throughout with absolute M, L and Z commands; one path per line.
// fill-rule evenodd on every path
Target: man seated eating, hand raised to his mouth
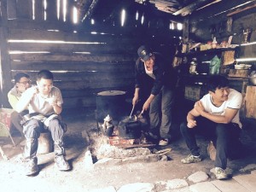
M 63 100 L 61 90 L 53 86 L 53 79 L 53 74 L 48 70 L 38 72 L 37 86 L 27 89 L 16 106 L 18 113 L 28 108 L 30 114 L 30 119 L 23 125 L 26 137 L 23 154 L 26 161 L 26 175 L 38 172 L 38 137 L 43 131 L 50 131 L 55 143 L 55 166 L 61 171 L 70 169 L 64 157 L 64 125 L 58 119 Z

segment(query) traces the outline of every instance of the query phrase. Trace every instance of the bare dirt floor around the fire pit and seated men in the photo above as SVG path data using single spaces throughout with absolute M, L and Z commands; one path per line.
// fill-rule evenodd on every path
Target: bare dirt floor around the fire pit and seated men
M 97 164 L 93 168 L 88 167 L 85 152 L 92 146 L 88 139 L 84 138 L 84 131 L 90 136 L 97 136 L 96 120 L 93 111 L 83 113 L 64 114 L 68 131 L 65 136 L 67 148 L 67 160 L 72 165 L 69 172 L 59 172 L 56 170 L 53 161 L 53 153 L 39 154 L 38 164 L 40 172 L 34 177 L 26 177 L 23 174 L 23 163 L 19 154 L 23 146 L 18 144 L 12 146 L 9 138 L 0 137 L 0 144 L 3 152 L 7 154 L 9 160 L 0 157 L 0 190 L 1 191 L 89 191 L 90 189 L 102 189 L 113 186 L 119 189 L 127 183 L 156 183 L 159 181 L 171 180 L 174 178 L 186 178 L 190 174 L 198 171 L 207 172 L 215 179 L 210 169 L 214 166 L 213 161 L 207 155 L 208 142 L 203 138 L 198 138 L 203 161 L 197 164 L 183 165 L 180 160 L 189 154 L 183 139 L 179 137 L 168 146 L 160 148 L 172 148 L 167 154 L 168 160 L 156 162 L 137 161 L 127 163 L 125 161 L 109 161 L 109 163 Z M 254 127 L 255 128 L 255 127 Z M 233 174 L 243 174 L 241 169 L 247 165 L 255 164 L 256 157 L 256 129 L 248 129 L 242 132 L 242 142 L 244 143 L 244 155 L 237 160 L 229 160 L 228 166 Z M 19 143 L 20 137 L 15 137 L 15 142 Z M 150 160 L 149 160 L 150 161 Z

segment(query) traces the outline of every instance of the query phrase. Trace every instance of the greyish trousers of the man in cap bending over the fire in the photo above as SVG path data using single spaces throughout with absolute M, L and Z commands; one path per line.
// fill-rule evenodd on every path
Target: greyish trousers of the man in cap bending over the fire
M 160 93 L 154 96 L 150 103 L 149 121 L 150 130 L 160 129 L 160 137 L 170 138 L 169 131 L 172 125 L 172 106 L 174 103 L 174 92 L 163 86 Z

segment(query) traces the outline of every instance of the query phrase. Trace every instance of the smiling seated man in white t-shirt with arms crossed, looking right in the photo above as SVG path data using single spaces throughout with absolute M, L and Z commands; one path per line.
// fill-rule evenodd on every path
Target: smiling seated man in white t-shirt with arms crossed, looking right
M 201 161 L 200 150 L 195 134 L 200 133 L 212 141 L 216 148 L 215 175 L 218 179 L 228 178 L 224 171 L 227 167 L 228 149 L 238 143 L 241 131 L 239 109 L 242 104 L 241 93 L 229 88 L 229 80 L 224 76 L 210 77 L 208 94 L 195 102 L 187 115 L 187 122 L 181 125 L 181 133 L 190 150 L 183 164 Z

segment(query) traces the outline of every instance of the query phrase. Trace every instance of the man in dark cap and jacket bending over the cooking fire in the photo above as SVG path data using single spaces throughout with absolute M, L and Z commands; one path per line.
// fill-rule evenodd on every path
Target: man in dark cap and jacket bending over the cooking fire
M 159 145 L 167 145 L 171 138 L 172 105 L 177 84 L 177 73 L 172 63 L 162 55 L 142 45 L 137 49 L 139 58 L 135 66 L 135 93 L 132 105 L 143 98 L 143 112 L 149 109 L 151 135 L 160 135 Z

